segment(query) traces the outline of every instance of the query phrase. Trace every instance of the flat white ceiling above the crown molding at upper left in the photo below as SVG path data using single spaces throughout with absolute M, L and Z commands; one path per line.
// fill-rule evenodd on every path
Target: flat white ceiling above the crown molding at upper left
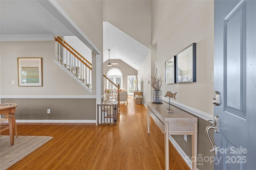
M 1 0 L 0 14 L 0 35 L 74 35 L 35 0 Z

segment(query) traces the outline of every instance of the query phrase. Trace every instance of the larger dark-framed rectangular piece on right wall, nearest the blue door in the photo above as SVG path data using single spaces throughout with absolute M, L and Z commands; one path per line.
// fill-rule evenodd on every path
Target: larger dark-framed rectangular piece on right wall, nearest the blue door
M 176 55 L 176 82 L 196 82 L 196 43 Z

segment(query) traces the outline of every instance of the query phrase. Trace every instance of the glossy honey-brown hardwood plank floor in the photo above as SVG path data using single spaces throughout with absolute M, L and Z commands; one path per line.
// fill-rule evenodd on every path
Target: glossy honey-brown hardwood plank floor
M 17 123 L 18 135 L 54 137 L 8 170 L 162 170 L 164 135 L 150 118 L 147 109 L 135 104 L 120 104 L 116 126 L 94 123 Z M 8 135 L 4 131 L 1 135 Z M 15 145 L 15 139 L 14 139 Z M 170 170 L 190 168 L 169 142 Z

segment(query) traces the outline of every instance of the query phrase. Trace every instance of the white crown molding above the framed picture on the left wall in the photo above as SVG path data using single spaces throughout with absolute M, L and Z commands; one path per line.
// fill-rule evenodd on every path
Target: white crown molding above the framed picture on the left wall
M 6 34 L 0 41 L 54 41 L 54 34 Z

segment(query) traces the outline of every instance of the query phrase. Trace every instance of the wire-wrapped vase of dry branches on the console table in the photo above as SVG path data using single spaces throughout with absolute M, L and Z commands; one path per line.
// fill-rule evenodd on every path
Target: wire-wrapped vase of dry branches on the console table
M 162 87 L 162 83 L 163 83 L 162 77 L 163 77 L 163 74 L 161 76 L 159 76 L 158 74 L 151 75 L 150 80 L 148 81 L 150 86 L 154 89 L 154 92 L 153 92 L 153 103 L 154 104 L 162 104 L 161 90 L 160 90 Z

